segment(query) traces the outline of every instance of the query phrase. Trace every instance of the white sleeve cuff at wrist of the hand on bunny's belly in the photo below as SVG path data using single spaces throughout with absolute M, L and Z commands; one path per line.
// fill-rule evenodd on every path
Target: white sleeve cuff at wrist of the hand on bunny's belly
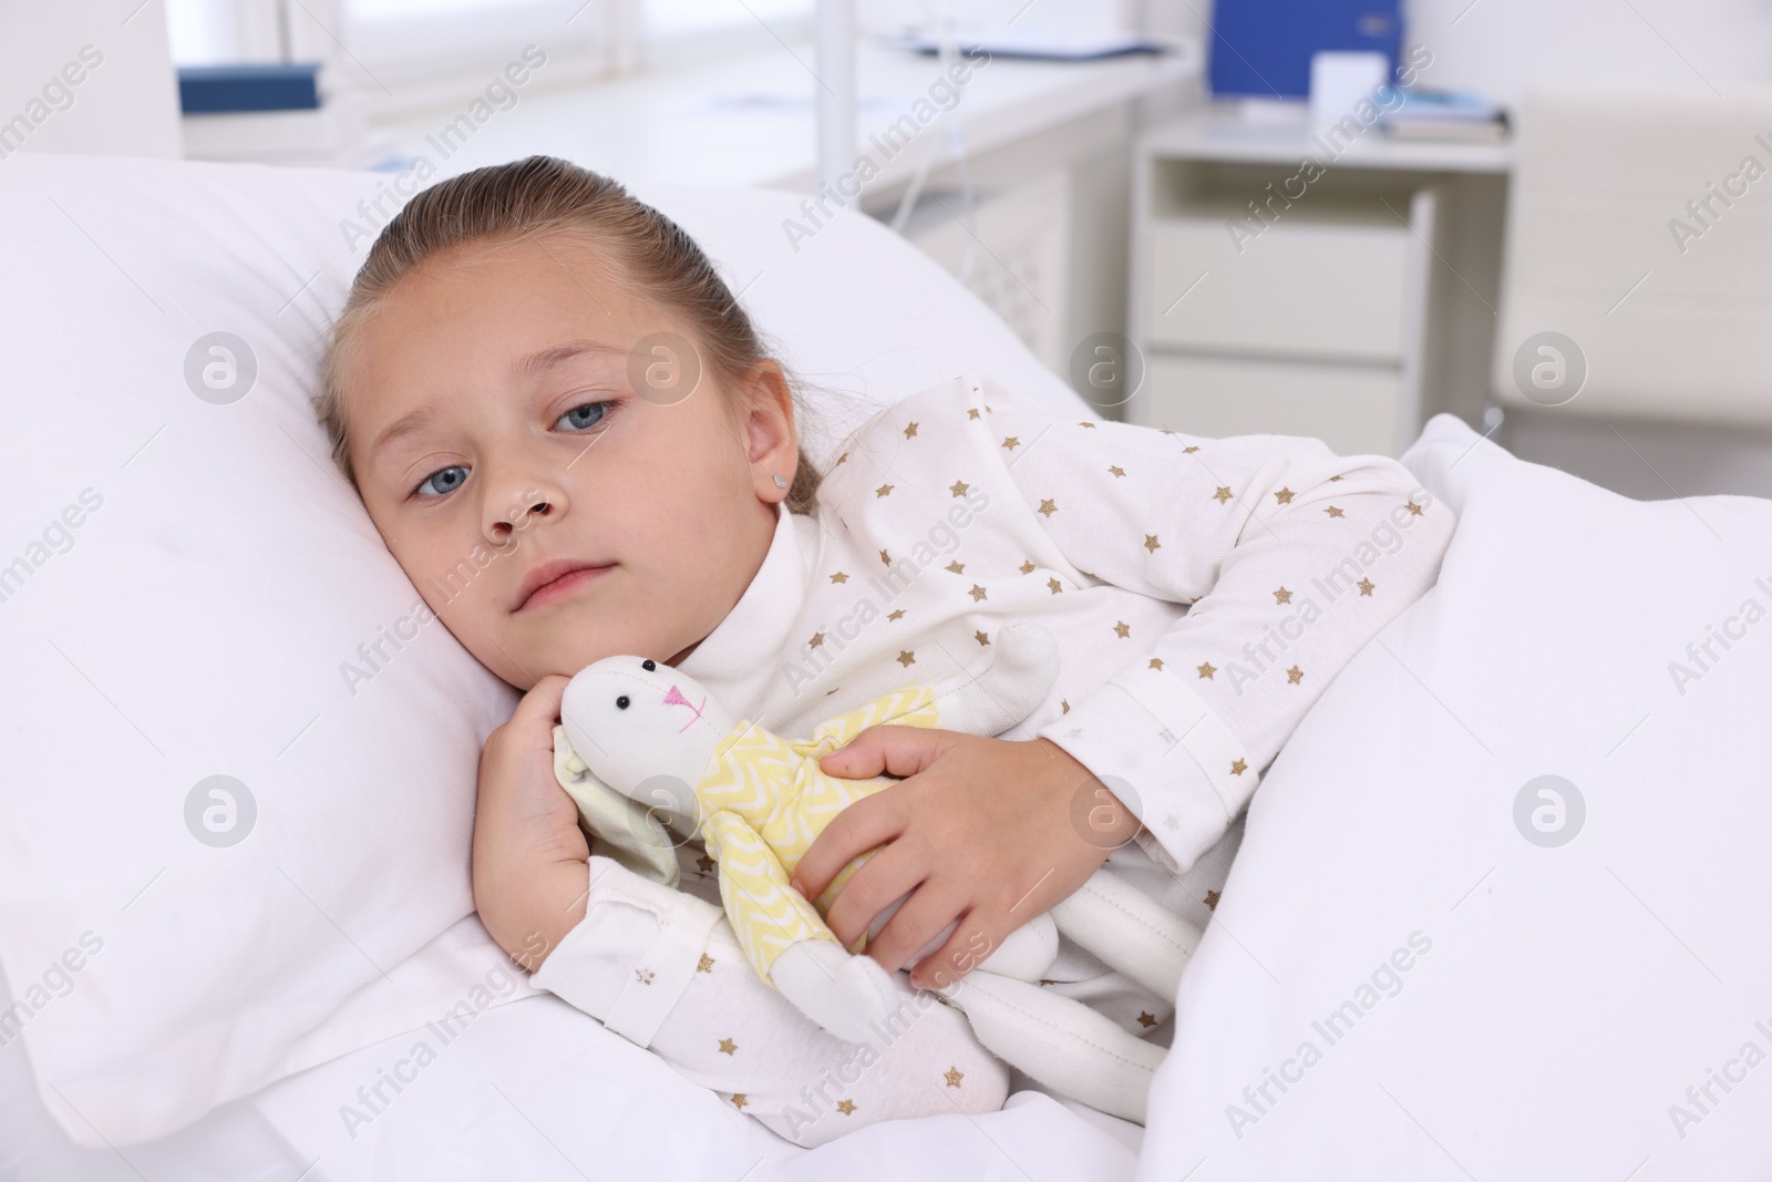
M 1249 803 L 1256 769 L 1187 682 L 1125 670 L 1038 732 L 1090 769 L 1143 822 L 1138 844 L 1185 874 Z

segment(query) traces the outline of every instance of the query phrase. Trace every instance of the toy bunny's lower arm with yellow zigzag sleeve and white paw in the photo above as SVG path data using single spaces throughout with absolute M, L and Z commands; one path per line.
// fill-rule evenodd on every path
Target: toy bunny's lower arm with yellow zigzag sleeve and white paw
M 789 886 L 774 851 L 737 813 L 703 822 L 718 847 L 719 898 L 757 975 L 819 1026 L 863 1042 L 898 1005 L 891 976 L 872 957 L 852 957 L 806 898 Z

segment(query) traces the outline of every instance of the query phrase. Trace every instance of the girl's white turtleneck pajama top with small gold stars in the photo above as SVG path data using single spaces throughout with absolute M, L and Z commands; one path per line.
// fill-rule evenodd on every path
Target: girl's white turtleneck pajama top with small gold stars
M 1111 776 L 1145 829 L 1104 872 L 1205 927 L 1260 773 L 1354 654 L 1434 585 L 1455 517 L 1395 459 L 1341 457 L 1294 436 L 1189 436 L 1178 425 L 1079 420 L 1076 408 L 1051 409 L 978 374 L 911 393 L 833 448 L 813 514 L 778 514 L 764 565 L 680 668 L 734 716 L 799 737 L 907 680 L 957 672 L 980 652 L 978 634 L 1038 620 L 1060 645 L 1058 684 L 1001 737 L 1047 737 Z M 698 854 L 696 842 L 680 851 L 682 890 L 705 891 L 718 909 L 716 881 L 696 872 L 712 863 Z M 672 893 L 618 870 L 624 883 Z M 574 982 L 659 996 L 672 964 L 657 950 L 664 941 L 618 936 L 611 916 L 622 906 L 594 886 L 587 921 L 535 984 L 579 1008 L 610 999 L 581 1003 Z M 757 976 L 730 925 L 718 932 L 725 953 L 695 946 L 670 975 L 705 991 L 682 994 L 652 1046 L 668 1046 L 679 1070 L 721 1099 L 744 1095 L 748 1115 L 783 1131 L 789 1097 L 817 1070 L 804 1060 L 755 1061 L 753 1047 L 810 1054 L 829 1035 Z M 711 971 L 698 971 L 702 955 Z M 606 969 L 592 968 L 599 957 Z M 659 984 L 626 985 L 636 966 L 659 971 Z M 1070 941 L 1060 941 L 1042 985 L 1132 1033 L 1146 1031 L 1148 1014 L 1159 1023 L 1148 1033 L 1161 1037 L 1173 1015 L 1170 999 L 1106 973 Z M 753 1030 L 730 1019 L 734 1007 L 787 1015 Z M 891 1047 L 904 1056 L 897 1086 L 874 1086 L 881 1069 L 854 1085 L 833 1081 L 819 1099 L 828 1115 L 806 1136 L 893 1118 L 893 1104 L 934 1111 L 916 1095 L 925 1081 L 968 1104 L 991 1102 L 1005 1069 L 955 1010 L 934 1005 L 911 1030 L 929 1030 L 929 1044 Z M 718 1049 L 727 1037 L 734 1054 Z M 964 1072 L 964 1088 L 944 1083 L 950 1069 Z M 843 1099 L 854 1115 L 835 1108 Z

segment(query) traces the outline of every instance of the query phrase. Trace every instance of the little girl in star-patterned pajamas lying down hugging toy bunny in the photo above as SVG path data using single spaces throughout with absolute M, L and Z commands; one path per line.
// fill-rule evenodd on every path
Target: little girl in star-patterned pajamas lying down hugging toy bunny
M 447 179 L 383 229 L 315 399 L 429 606 L 526 691 L 480 760 L 487 932 L 803 1145 L 989 1111 L 1008 1079 L 909 991 L 913 1021 L 856 1069 L 744 964 L 703 851 L 680 852 L 672 891 L 592 849 L 553 769 L 578 670 L 650 656 L 803 735 L 969 665 L 1006 622 L 1049 627 L 1058 686 L 1003 737 L 882 727 L 824 760 L 905 780 L 845 810 L 796 886 L 813 898 L 882 847 L 829 927 L 851 945 L 905 897 L 868 945 L 898 969 L 957 921 L 911 976 L 948 987 L 1104 861 L 1205 925 L 1258 776 L 1432 585 L 1453 530 L 1396 461 L 1317 439 L 1063 418 L 983 376 L 905 393 L 819 473 L 789 376 L 702 250 L 613 181 L 533 156 Z M 1051 975 L 1164 1035 L 1171 998 L 1069 941 Z

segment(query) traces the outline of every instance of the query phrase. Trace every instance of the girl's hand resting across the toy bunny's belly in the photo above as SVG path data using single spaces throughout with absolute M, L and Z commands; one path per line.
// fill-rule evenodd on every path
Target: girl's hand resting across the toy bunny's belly
M 923 727 L 868 727 L 826 755 L 828 774 L 907 776 L 826 826 L 794 868 L 817 898 L 858 854 L 891 842 L 838 893 L 826 916 L 852 945 L 881 911 L 911 895 L 870 941 L 888 971 L 953 920 L 959 927 L 911 969 L 941 989 L 975 969 L 1012 930 L 1083 886 L 1139 822 L 1083 764 L 1049 739 L 983 739 Z

